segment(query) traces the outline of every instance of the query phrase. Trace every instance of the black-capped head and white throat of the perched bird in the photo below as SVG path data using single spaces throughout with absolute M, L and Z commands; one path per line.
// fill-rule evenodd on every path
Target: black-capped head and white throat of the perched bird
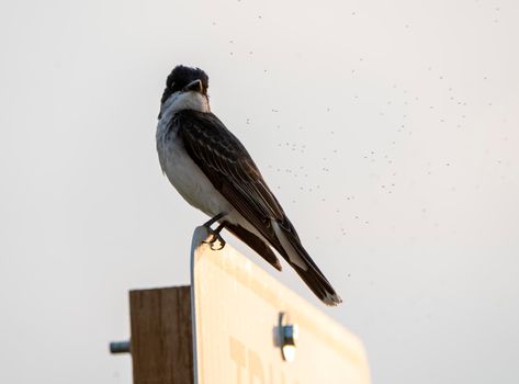
M 166 80 L 159 118 L 166 110 L 208 112 L 208 76 L 200 68 L 177 66 Z

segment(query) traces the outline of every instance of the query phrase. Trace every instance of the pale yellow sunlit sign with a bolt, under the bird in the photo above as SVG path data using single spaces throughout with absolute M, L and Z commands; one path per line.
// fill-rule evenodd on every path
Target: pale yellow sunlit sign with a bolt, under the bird
M 191 261 L 195 383 L 370 383 L 356 336 L 228 244 L 211 250 L 206 237 L 196 228 Z

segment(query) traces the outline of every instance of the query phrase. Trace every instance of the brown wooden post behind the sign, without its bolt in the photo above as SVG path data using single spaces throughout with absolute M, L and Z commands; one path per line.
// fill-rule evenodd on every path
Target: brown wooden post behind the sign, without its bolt
M 129 292 L 134 384 L 192 384 L 191 289 Z

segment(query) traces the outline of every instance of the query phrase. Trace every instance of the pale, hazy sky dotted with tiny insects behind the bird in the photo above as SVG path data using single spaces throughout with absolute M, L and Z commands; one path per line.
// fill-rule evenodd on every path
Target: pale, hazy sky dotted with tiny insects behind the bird
M 155 150 L 177 64 L 345 303 L 271 272 L 373 383 L 517 381 L 518 36 L 516 1 L 0 3 L 0 382 L 131 383 L 127 291 L 189 282 L 206 218 Z

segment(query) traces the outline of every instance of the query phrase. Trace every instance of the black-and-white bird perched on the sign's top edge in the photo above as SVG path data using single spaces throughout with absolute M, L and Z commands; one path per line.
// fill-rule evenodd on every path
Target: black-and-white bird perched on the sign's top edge
M 208 76 L 198 67 L 178 65 L 167 77 L 156 133 L 162 172 L 211 217 L 203 225 L 212 248 L 225 246 L 225 228 L 281 271 L 274 249 L 323 303 L 341 303 L 245 146 L 211 111 L 207 88 Z

